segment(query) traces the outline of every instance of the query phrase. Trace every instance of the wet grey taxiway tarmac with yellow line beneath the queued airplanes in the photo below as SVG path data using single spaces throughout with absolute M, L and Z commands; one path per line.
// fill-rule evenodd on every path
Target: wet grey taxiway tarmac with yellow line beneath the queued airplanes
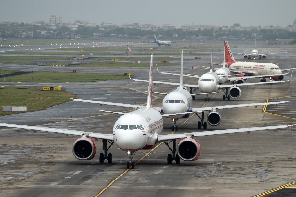
M 286 62 L 289 61 L 292 60 Z M 187 65 L 189 68 L 190 62 L 184 66 Z M 290 64 L 285 63 L 284 66 L 289 67 Z M 125 68 L 116 69 L 117 72 L 123 72 Z M 141 69 L 147 71 L 147 68 L 136 70 Z M 178 70 L 178 66 L 170 68 L 170 71 L 178 72 Z M 205 71 L 191 72 L 198 74 Z M 146 74 L 136 72 L 134 76 L 144 79 L 147 77 L 147 72 Z M 166 77 L 162 78 L 160 74 L 155 74 L 155 78 L 159 80 L 178 82 L 178 78 Z M 185 78 L 184 82 L 196 83 L 196 79 Z M 7 83 L 0 83 L 0 86 L 2 85 Z M 42 87 L 44 84 L 11 83 L 9 85 Z M 134 82 L 130 79 L 77 84 L 59 83 L 58 85 L 80 99 L 104 99 L 110 102 L 133 104 L 146 102 L 144 91 L 148 88 L 147 83 Z M 153 85 L 155 92 L 169 92 L 174 88 L 168 85 Z M 292 77 L 291 81 L 285 83 L 243 87 L 241 97 L 230 101 L 223 101 L 223 93 L 210 97 L 209 102 L 204 101 L 204 96 L 195 97 L 193 106 L 265 102 L 266 99 L 279 97 L 286 97 L 289 100 L 290 97 L 295 96 L 295 90 L 295 77 Z M 164 95 L 155 96 L 153 105 L 160 107 Z M 287 104 L 286 108 L 289 109 L 289 105 L 291 103 Z M 99 109 L 130 110 L 71 101 L 39 112 L 1 116 L 0 122 L 14 124 L 33 122 L 32 125 L 48 123 L 46 127 L 111 133 L 119 115 L 102 113 L 98 111 Z M 296 120 L 291 117 L 264 113 L 263 106 L 226 109 L 219 112 L 222 115 L 220 125 L 208 126 L 207 130 L 296 123 Z M 177 132 L 198 131 L 197 121 L 199 119 L 196 115 L 187 120 L 179 119 L 177 125 L 180 127 Z M 165 118 L 162 134 L 170 134 L 172 125 L 172 121 Z M 99 153 L 102 152 L 100 140 L 95 141 L 97 154 L 94 159 L 80 161 L 75 159 L 71 152 L 77 136 L 2 129 L 0 130 L 0 194 L 4 197 L 258 196 L 295 182 L 295 131 L 295 128 L 289 128 L 199 137 L 197 140 L 201 144 L 202 151 L 200 159 L 194 162 L 181 160 L 181 164 L 178 165 L 167 164 L 167 154 L 170 150 L 164 144 L 160 144 L 151 153 L 137 152 L 134 161 L 145 157 L 135 165 L 135 169 L 126 171 L 127 155 L 114 145 L 109 150 L 113 154 L 113 163 L 99 164 Z M 287 187 L 287 190 L 289 187 L 291 190 L 286 196 L 293 196 L 295 194 L 291 192 L 293 185 Z M 282 190 L 276 192 L 279 191 Z M 268 195 L 272 196 L 273 193 L 264 196 Z

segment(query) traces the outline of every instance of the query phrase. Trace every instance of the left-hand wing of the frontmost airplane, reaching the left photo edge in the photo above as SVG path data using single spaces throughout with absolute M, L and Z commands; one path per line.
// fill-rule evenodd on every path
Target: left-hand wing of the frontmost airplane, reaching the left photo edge
M 97 139 L 106 139 L 113 141 L 112 134 L 105 134 L 105 133 L 93 133 L 87 131 L 76 131 L 76 130 L 68 130 L 68 129 L 59 129 L 59 128 L 49 128 L 49 127 L 41 127 L 41 126 L 27 126 L 27 125 L 17 125 L 17 124 L 6 124 L 0 123 L 0 126 L 11 127 L 11 128 L 24 128 L 24 129 L 31 129 L 34 132 L 36 131 L 47 131 L 52 133 L 62 133 L 66 135 L 75 135 L 75 136 L 83 136 L 86 135 L 88 137 L 93 137 Z

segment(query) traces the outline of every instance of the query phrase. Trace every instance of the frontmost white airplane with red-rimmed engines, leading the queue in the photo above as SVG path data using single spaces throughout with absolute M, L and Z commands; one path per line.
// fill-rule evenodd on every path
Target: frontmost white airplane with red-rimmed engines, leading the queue
M 164 144 L 172 151 L 172 154 L 168 154 L 167 157 L 168 164 L 171 164 L 173 160 L 176 161 L 176 164 L 179 164 L 180 159 L 184 161 L 196 161 L 199 159 L 201 146 L 200 143 L 194 139 L 194 137 L 279 129 L 293 126 L 263 126 L 161 135 L 163 129 L 163 118 L 160 112 L 152 106 L 152 61 L 153 58 L 151 56 L 147 105 L 141 106 L 141 108 L 129 113 L 121 113 L 123 115 L 117 119 L 113 126 L 112 133 L 110 134 L 7 123 L 0 123 L 0 126 L 30 129 L 33 130 L 33 132 L 47 131 L 66 135 L 81 136 L 80 138 L 76 139 L 72 145 L 72 153 L 74 157 L 79 160 L 93 159 L 96 154 L 96 144 L 91 138 L 94 138 L 95 140 L 102 139 L 102 148 L 104 153 L 100 153 L 99 163 L 103 163 L 105 159 L 107 159 L 108 163 L 112 163 L 112 153 L 108 153 L 108 150 L 112 144 L 115 144 L 119 149 L 127 153 L 129 159 L 127 162 L 128 169 L 135 167 L 133 156 L 136 151 L 143 149 L 153 149 L 160 142 L 165 142 Z M 179 140 L 179 143 L 176 146 L 177 139 L 181 140 Z M 107 147 L 107 142 L 110 143 L 109 147 Z M 169 146 L 171 142 L 173 142 L 173 148 Z

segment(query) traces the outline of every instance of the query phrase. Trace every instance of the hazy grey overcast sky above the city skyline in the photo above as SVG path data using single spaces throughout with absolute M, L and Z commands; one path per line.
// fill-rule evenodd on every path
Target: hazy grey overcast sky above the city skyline
M 49 22 L 59 15 L 62 22 L 75 20 L 100 25 L 125 23 L 163 25 L 292 25 L 295 0 L 2 0 L 2 22 Z

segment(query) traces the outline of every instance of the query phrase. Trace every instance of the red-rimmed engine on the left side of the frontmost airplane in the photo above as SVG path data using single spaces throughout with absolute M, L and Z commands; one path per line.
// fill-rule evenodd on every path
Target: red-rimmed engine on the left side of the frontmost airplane
M 72 152 L 76 159 L 90 160 L 96 155 L 96 144 L 92 139 L 82 137 L 75 140 Z

